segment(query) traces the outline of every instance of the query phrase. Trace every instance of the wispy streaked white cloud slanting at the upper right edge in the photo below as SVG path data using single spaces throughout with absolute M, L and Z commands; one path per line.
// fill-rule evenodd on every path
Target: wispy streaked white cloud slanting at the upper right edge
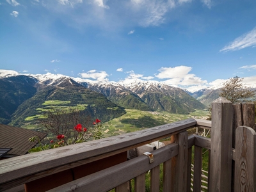
M 237 51 L 246 47 L 253 47 L 256 45 L 256 28 L 252 31 L 237 37 L 233 42 L 223 47 L 220 51 Z

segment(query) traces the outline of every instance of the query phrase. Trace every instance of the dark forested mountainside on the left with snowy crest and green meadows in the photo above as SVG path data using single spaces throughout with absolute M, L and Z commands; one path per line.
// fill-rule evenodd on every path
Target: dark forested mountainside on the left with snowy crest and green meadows
M 72 78 L 61 75 L 20 75 L 0 72 L 0 123 L 22 126 L 26 118 L 40 116 L 49 108 L 46 100 L 65 101 L 63 107 L 83 106 L 86 115 L 108 121 L 124 115 L 124 108 L 116 106 L 104 95 L 85 88 Z

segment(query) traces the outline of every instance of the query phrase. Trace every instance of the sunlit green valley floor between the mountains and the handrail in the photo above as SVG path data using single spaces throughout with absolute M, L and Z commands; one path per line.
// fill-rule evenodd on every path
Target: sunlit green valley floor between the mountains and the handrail
M 124 134 L 126 132 L 139 131 L 157 125 L 170 124 L 186 118 L 205 118 L 208 111 L 196 110 L 189 115 L 180 115 L 167 112 L 139 111 L 136 109 L 125 109 L 125 115 L 110 120 L 103 125 L 105 137 Z

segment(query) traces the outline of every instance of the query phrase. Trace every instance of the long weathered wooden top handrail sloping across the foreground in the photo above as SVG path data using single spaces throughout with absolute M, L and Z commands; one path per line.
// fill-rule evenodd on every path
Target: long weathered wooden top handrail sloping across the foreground
M 0 161 L 0 191 L 13 188 L 53 173 L 68 170 L 104 157 L 113 156 L 195 127 L 189 118 L 101 140 L 78 143 Z

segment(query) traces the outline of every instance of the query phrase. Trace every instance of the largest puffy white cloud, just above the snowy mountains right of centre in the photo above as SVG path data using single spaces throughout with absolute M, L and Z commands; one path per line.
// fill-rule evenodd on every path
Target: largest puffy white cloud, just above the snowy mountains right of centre
M 207 81 L 202 80 L 200 77 L 196 77 L 195 74 L 189 74 L 192 70 L 191 67 L 178 66 L 178 67 L 161 67 L 158 71 L 159 74 L 155 75 L 159 79 L 167 79 L 163 83 L 170 84 L 172 86 L 191 86 L 195 84 L 205 84 Z

